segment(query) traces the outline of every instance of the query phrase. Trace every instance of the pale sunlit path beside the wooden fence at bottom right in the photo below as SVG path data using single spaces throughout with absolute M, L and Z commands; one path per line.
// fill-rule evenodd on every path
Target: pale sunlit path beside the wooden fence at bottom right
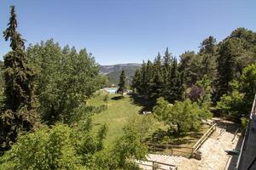
M 220 130 L 226 125 L 226 132 L 218 139 Z M 223 170 L 229 156 L 224 150 L 233 150 L 236 148 L 238 137 L 232 143 L 237 126 L 231 122 L 218 122 L 218 127 L 207 141 L 202 144 L 200 151 L 202 153 L 201 161 L 188 159 L 181 156 L 161 156 L 148 155 L 148 160 L 160 161 L 176 165 L 178 170 Z M 143 169 L 152 169 L 142 166 Z M 169 167 L 163 167 L 168 169 Z

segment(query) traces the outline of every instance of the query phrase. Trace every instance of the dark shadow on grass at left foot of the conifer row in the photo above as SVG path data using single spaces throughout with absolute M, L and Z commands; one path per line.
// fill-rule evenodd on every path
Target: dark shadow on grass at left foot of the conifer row
M 130 99 L 133 105 L 143 106 L 140 113 L 143 113 L 143 111 L 153 110 L 153 107 L 154 107 L 153 99 L 147 99 L 145 96 L 139 95 L 139 94 L 130 94 Z

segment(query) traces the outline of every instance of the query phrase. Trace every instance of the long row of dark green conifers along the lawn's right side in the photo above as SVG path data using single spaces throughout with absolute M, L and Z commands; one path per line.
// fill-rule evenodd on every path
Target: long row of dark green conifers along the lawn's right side
M 239 81 L 243 71 L 255 61 L 256 32 L 237 28 L 221 42 L 217 42 L 215 37 L 207 37 L 201 42 L 198 53 L 186 51 L 178 61 L 166 48 L 163 57 L 158 54 L 153 62 L 143 62 L 133 76 L 131 88 L 145 98 L 156 101 L 163 97 L 173 104 L 176 100 L 189 98 L 195 101 L 201 98 L 206 88 L 198 82 L 207 78 L 210 102 L 216 106 L 224 96 L 233 93 L 235 82 L 241 85 Z M 254 89 L 253 86 L 250 88 Z M 245 94 L 244 90 L 240 91 Z M 250 98 L 247 105 L 252 102 Z

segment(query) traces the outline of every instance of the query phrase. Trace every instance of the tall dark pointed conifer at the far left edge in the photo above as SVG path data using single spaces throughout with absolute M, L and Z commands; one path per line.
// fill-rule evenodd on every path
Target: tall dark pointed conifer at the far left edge
M 12 49 L 4 56 L 4 108 L 1 115 L 1 151 L 9 150 L 22 130 L 31 131 L 38 122 L 34 96 L 35 72 L 29 67 L 24 51 L 24 40 L 16 30 L 15 6 L 11 6 L 11 17 L 3 37 L 10 41 Z

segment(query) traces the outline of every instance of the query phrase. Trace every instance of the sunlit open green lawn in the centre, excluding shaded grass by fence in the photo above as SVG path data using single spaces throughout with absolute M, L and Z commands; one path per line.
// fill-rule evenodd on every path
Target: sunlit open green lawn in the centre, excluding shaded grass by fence
M 106 94 L 101 94 L 88 101 L 88 105 L 103 105 L 106 104 L 103 98 Z M 113 141 L 120 137 L 123 133 L 123 127 L 125 122 L 131 116 L 144 116 L 139 115 L 139 112 L 143 109 L 143 106 L 136 105 L 133 103 L 133 99 L 129 95 L 125 95 L 125 98 L 121 97 L 119 94 L 109 94 L 108 100 L 108 110 L 102 111 L 99 114 L 93 116 L 93 122 L 96 125 L 101 125 L 106 123 L 108 125 L 107 139 L 105 144 L 113 144 Z M 152 125 L 152 129 L 164 128 L 162 122 L 155 121 Z M 148 132 L 150 133 L 150 132 Z M 151 132 L 153 133 L 153 132 Z

